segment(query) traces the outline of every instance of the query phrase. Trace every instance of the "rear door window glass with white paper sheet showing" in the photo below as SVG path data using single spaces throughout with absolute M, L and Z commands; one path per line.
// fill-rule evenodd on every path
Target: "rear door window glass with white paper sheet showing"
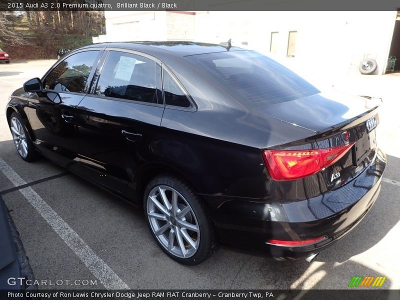
M 157 103 L 156 63 L 143 56 L 110 51 L 95 93 L 126 100 Z

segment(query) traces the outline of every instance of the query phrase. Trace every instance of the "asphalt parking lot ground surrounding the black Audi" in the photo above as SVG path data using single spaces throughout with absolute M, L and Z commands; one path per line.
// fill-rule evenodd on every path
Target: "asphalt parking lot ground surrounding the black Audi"
M 352 232 L 311 263 L 275 261 L 221 246 L 204 263 L 183 266 L 159 249 L 141 210 L 45 158 L 27 163 L 17 155 L 5 118 L 8 96 L 27 79 L 41 77 L 53 62 L 0 64 L 0 193 L 36 279 L 63 280 L 40 289 L 342 289 L 352 276 L 386 276 L 384 288 L 400 288 L 400 76 L 329 79 L 338 90 L 383 99 L 377 142 L 387 153 L 385 179 L 375 205 Z M 28 186 L 15 188 L 23 184 Z

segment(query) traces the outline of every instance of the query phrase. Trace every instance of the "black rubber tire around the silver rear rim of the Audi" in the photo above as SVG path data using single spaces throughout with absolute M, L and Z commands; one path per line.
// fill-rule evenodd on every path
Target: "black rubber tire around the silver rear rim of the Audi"
M 181 258 L 169 252 L 168 249 L 165 248 L 165 246 L 158 240 L 158 238 L 154 234 L 154 231 L 150 225 L 150 217 L 148 216 L 147 213 L 147 202 L 151 201 L 149 200 L 150 191 L 157 186 L 168 186 L 175 189 L 178 193 L 180 193 L 181 196 L 183 196 L 184 200 L 189 204 L 191 212 L 194 213 L 194 218 L 196 219 L 199 228 L 199 241 L 195 253 L 192 254 L 192 256 L 190 257 Z M 146 185 L 144 191 L 143 209 L 147 226 L 150 229 L 150 232 L 154 240 L 157 242 L 159 247 L 165 252 L 165 254 L 167 254 L 175 261 L 185 265 L 198 264 L 206 260 L 216 250 L 215 230 L 213 223 L 211 221 L 211 217 L 207 213 L 206 207 L 200 201 L 200 199 L 193 191 L 193 189 L 183 181 L 168 175 L 157 176 L 152 180 L 150 180 L 150 182 Z M 177 237 L 175 241 L 177 242 Z

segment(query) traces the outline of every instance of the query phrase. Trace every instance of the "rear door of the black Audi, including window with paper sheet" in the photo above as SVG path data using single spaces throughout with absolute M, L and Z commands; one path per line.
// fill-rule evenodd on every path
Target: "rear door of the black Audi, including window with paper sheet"
M 164 109 L 161 67 L 133 51 L 104 55 L 97 84 L 78 106 L 80 162 L 87 177 L 124 193 L 133 170 L 152 159 Z

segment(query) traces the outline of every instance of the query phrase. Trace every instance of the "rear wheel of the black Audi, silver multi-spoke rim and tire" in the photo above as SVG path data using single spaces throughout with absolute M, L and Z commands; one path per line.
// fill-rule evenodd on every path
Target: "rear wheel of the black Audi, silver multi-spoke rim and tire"
M 186 183 L 171 176 L 155 177 L 144 191 L 143 208 L 155 241 L 172 259 L 193 265 L 214 252 L 211 218 Z

